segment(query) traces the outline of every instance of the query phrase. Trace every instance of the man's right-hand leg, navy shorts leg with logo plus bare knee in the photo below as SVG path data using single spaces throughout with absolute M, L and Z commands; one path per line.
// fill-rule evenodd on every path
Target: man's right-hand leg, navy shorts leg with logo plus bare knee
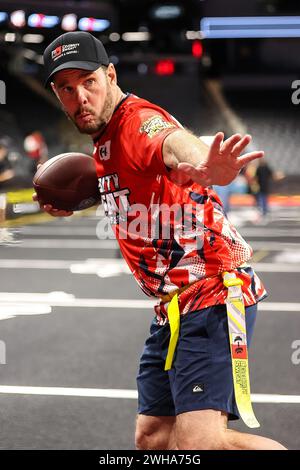
M 246 307 L 251 343 L 257 306 Z M 191 312 L 181 320 L 174 369 L 170 371 L 178 449 L 284 449 L 265 437 L 227 428 L 239 416 L 234 397 L 225 305 Z

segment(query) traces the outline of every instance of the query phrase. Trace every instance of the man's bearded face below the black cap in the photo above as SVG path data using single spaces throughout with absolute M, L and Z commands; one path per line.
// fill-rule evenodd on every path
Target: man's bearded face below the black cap
M 97 134 L 108 123 L 114 110 L 116 84 L 112 65 L 94 72 L 66 69 L 57 72 L 52 88 L 65 113 L 82 134 Z

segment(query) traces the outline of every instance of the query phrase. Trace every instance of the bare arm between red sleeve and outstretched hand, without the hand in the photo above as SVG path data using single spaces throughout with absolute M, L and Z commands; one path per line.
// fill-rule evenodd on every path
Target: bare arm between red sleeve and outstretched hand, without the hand
M 207 157 L 209 146 L 190 132 L 179 129 L 169 134 L 163 144 L 163 159 L 168 168 L 177 169 L 179 163 L 197 166 Z

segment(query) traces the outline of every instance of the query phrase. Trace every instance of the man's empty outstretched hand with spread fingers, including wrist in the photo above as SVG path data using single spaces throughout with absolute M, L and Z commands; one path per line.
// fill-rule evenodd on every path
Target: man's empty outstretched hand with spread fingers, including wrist
M 190 163 L 179 163 L 177 170 L 183 171 L 201 186 L 212 184 L 225 186 L 234 180 L 243 166 L 264 156 L 262 151 L 241 155 L 250 141 L 250 135 L 242 137 L 240 134 L 234 134 L 224 141 L 223 132 L 218 132 L 205 160 L 201 161 L 197 167 Z

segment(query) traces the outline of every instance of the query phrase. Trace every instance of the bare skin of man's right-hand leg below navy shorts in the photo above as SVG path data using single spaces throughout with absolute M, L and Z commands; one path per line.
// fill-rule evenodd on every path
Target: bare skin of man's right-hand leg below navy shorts
M 227 428 L 227 413 L 198 410 L 176 418 L 180 450 L 286 450 L 279 442 Z

